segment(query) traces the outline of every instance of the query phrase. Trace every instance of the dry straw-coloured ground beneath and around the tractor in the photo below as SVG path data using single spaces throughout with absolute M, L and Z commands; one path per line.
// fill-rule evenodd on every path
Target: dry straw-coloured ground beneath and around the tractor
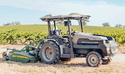
M 21 48 L 24 45 L 1 45 L 3 52 L 6 48 Z M 125 73 L 125 54 L 119 52 L 108 65 L 100 67 L 87 66 L 85 59 L 75 58 L 70 62 L 59 62 L 56 65 L 38 63 L 21 63 L 5 61 L 0 54 L 0 72 L 2 74 L 83 74 L 83 73 Z

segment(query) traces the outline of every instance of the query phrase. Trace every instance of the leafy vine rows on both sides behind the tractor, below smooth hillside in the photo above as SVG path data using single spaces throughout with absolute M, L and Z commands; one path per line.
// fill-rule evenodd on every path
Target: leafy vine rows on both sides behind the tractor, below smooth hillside
M 112 36 L 115 38 L 118 44 L 125 44 L 125 31 L 92 31 L 91 33 Z M 62 34 L 66 34 L 62 32 Z M 27 44 L 39 39 L 44 39 L 48 34 L 42 32 L 17 32 L 16 29 L 12 29 L 6 32 L 0 33 L 0 44 Z

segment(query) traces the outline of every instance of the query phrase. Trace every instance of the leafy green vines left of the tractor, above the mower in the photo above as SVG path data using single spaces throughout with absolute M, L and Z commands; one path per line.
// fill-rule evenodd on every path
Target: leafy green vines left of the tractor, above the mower
M 0 33 L 0 43 L 1 44 L 18 44 L 21 42 L 25 44 L 26 42 L 34 42 L 39 39 L 44 39 L 48 35 L 41 32 L 16 32 L 16 29 L 12 29 L 6 32 Z

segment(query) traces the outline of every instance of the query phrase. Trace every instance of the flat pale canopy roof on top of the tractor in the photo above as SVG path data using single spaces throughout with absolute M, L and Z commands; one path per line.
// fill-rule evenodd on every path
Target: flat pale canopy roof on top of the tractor
M 74 20 L 80 20 L 80 19 L 89 19 L 89 15 L 83 15 L 79 13 L 71 13 L 69 15 L 46 15 L 42 18 L 40 18 L 42 21 L 60 21 L 60 20 L 67 20 L 67 19 L 74 19 Z

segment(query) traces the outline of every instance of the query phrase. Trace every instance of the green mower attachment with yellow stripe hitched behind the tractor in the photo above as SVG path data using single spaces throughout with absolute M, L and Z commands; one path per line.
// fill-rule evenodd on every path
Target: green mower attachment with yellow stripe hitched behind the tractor
M 3 52 L 3 57 L 6 60 L 19 61 L 19 62 L 37 62 L 39 60 L 38 52 L 40 46 L 44 43 L 44 40 L 39 40 L 33 42 L 21 50 L 17 49 L 7 49 L 6 52 Z

